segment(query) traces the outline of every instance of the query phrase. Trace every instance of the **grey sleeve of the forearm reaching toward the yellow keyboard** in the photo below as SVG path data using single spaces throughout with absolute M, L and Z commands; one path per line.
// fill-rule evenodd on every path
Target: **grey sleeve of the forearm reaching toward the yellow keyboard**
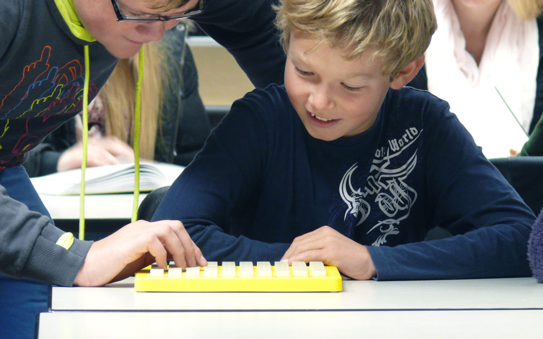
M 8 196 L 0 186 L 0 272 L 72 286 L 92 241 L 75 239 L 66 250 L 56 241 L 65 232 L 49 218 Z

